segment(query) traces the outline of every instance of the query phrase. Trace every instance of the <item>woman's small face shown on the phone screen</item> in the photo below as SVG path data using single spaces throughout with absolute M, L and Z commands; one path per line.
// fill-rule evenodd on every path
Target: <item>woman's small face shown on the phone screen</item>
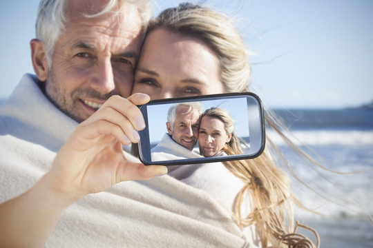
M 203 116 L 200 122 L 198 143 L 203 156 L 215 156 L 225 143 L 231 140 L 231 134 L 225 131 L 224 123 L 219 118 Z

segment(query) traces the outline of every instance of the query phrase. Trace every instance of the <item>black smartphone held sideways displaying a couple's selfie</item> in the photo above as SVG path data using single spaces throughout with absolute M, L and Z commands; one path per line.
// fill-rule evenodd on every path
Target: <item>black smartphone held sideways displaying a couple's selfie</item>
M 137 144 L 144 165 L 189 165 L 249 159 L 259 156 L 265 148 L 262 102 L 251 92 L 160 99 L 139 108 L 146 124 L 146 128 L 139 132 L 140 142 Z M 169 117 L 172 113 L 174 118 Z M 233 123 L 233 132 L 229 131 L 231 138 L 222 117 Z M 171 122 L 175 120 L 172 125 L 169 118 Z M 229 142 L 233 142 L 233 133 L 236 144 L 239 144 L 236 149 L 230 149 L 230 152 L 220 149 L 222 145 L 229 146 Z M 225 143 L 221 137 L 226 138 Z

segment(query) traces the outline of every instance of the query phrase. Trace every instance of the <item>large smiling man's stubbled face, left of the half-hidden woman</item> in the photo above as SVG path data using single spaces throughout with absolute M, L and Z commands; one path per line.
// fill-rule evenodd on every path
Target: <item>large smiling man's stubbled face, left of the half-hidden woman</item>
M 59 109 L 84 121 L 113 94 L 128 97 L 140 54 L 140 14 L 123 3 L 119 15 L 85 18 L 105 1 L 70 1 L 68 24 L 55 44 L 46 94 Z M 97 12 L 97 11 L 96 11 Z M 124 18 L 125 17 L 125 18 Z

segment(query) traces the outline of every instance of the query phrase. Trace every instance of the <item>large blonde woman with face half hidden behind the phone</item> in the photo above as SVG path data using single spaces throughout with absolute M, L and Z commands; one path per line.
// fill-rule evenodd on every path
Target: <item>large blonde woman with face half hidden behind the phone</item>
M 135 73 L 133 93 L 142 92 L 151 96 L 151 99 L 162 99 L 249 91 L 250 64 L 245 44 L 224 15 L 184 3 L 178 8 L 164 10 L 149 25 L 146 35 Z M 271 116 L 267 114 L 265 118 L 269 125 L 278 130 Z M 272 160 L 272 156 L 276 155 L 272 151 L 278 149 L 270 141 L 269 145 L 271 149 L 267 146 L 258 158 L 224 163 L 229 172 L 242 181 L 241 189 L 234 196 L 236 200 L 232 211 L 235 220 L 242 228 L 255 227 L 251 229 L 251 232 L 255 232 L 251 238 L 254 240 L 258 236 L 259 242 L 256 244 L 260 243 L 262 247 L 294 247 L 297 242 L 298 245 L 302 242 L 312 247 L 312 242 L 307 238 L 291 234 L 294 220 L 289 178 Z M 203 171 L 204 166 L 187 166 L 175 169 L 175 172 L 181 171 L 175 174 L 175 178 L 184 178 L 186 175 L 193 177 L 202 171 L 204 173 L 199 174 L 205 176 L 203 179 L 206 182 L 220 186 L 218 179 L 211 179 L 213 176 L 209 174 L 218 167 Z M 224 180 L 229 174 L 220 179 Z M 191 179 L 187 183 L 211 193 L 211 196 L 216 192 L 209 183 L 203 184 L 203 180 Z M 226 187 L 227 190 L 229 188 L 231 185 Z M 245 209 L 247 204 L 250 205 L 249 210 Z

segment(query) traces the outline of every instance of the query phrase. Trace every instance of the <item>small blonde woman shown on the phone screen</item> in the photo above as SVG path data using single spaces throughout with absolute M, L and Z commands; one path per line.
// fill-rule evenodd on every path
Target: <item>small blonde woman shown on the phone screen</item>
M 205 110 L 201 116 L 198 143 L 203 156 L 223 156 L 227 152 L 242 154 L 238 137 L 228 112 L 219 107 Z

